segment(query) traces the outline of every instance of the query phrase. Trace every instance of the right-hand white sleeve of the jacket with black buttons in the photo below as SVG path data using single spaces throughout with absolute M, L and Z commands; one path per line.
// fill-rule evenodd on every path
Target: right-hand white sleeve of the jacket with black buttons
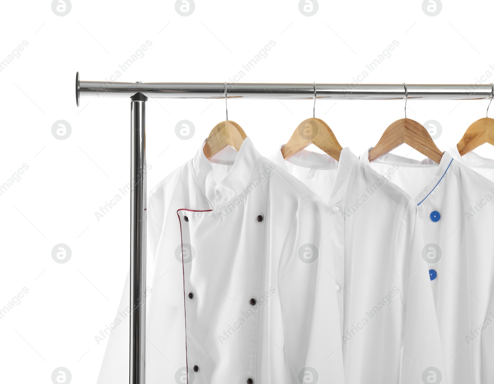
M 300 203 L 280 262 L 283 351 L 294 383 L 344 383 L 325 209 L 315 197 Z

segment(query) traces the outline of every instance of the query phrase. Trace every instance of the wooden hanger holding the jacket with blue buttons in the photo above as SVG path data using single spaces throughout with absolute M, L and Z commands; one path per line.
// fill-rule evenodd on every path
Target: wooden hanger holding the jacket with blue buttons
M 385 155 L 405 143 L 422 155 L 439 164 L 443 152 L 436 146 L 427 129 L 412 119 L 407 119 L 408 90 L 405 85 L 405 119 L 399 119 L 386 128 L 374 148 L 369 151 L 369 161 Z

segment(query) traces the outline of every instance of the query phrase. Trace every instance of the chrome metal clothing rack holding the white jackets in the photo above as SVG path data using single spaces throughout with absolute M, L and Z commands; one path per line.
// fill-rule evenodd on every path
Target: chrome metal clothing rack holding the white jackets
M 407 84 L 408 98 L 421 100 L 478 100 L 493 93 L 493 85 Z M 79 80 L 81 97 L 129 97 L 131 129 L 130 192 L 130 384 L 144 384 L 146 347 L 146 109 L 151 98 L 242 97 L 249 99 L 396 100 L 405 98 L 403 84 L 227 84 L 116 83 Z

